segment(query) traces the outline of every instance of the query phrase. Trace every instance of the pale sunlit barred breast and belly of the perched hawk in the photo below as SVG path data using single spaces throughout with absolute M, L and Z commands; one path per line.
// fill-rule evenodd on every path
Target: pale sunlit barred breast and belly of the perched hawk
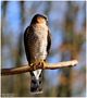
M 35 58 L 45 60 L 47 57 L 48 27 L 44 24 L 37 24 L 34 29 L 34 35 L 37 37 L 37 41 L 35 44 L 35 47 L 37 47 L 37 50 L 35 50 Z

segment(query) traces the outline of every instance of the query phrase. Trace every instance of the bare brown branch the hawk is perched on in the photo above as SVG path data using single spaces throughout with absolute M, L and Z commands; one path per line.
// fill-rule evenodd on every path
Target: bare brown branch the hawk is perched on
M 55 69 L 61 69 L 61 68 L 67 68 L 67 66 L 74 66 L 78 62 L 77 60 L 72 60 L 72 61 L 65 61 L 65 62 L 59 62 L 59 63 L 46 63 L 45 65 L 32 65 L 29 66 L 28 64 L 22 65 L 20 68 L 12 68 L 12 69 L 1 69 L 1 75 L 13 75 L 13 74 L 21 74 L 25 72 L 30 72 L 37 69 L 42 69 L 42 70 L 55 70 Z

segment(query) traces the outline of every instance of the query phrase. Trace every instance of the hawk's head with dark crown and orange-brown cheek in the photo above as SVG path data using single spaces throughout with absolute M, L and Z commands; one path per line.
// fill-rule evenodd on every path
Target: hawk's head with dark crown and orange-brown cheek
M 35 23 L 39 23 L 39 24 L 47 24 L 48 23 L 48 19 L 45 15 L 41 14 L 36 14 L 34 15 L 33 20 L 32 20 L 32 24 Z

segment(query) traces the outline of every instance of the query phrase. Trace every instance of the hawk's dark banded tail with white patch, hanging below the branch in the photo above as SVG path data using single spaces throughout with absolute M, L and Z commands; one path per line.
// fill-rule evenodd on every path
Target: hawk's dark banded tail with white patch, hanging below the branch
M 42 70 L 30 72 L 30 93 L 42 91 Z

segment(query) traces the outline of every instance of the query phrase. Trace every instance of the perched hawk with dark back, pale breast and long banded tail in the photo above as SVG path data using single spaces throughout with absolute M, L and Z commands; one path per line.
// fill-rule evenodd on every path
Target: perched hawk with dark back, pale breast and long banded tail
M 42 14 L 34 15 L 30 25 L 24 33 L 24 46 L 28 64 L 45 62 L 51 46 L 48 19 Z M 42 70 L 30 72 L 30 91 L 42 91 Z

